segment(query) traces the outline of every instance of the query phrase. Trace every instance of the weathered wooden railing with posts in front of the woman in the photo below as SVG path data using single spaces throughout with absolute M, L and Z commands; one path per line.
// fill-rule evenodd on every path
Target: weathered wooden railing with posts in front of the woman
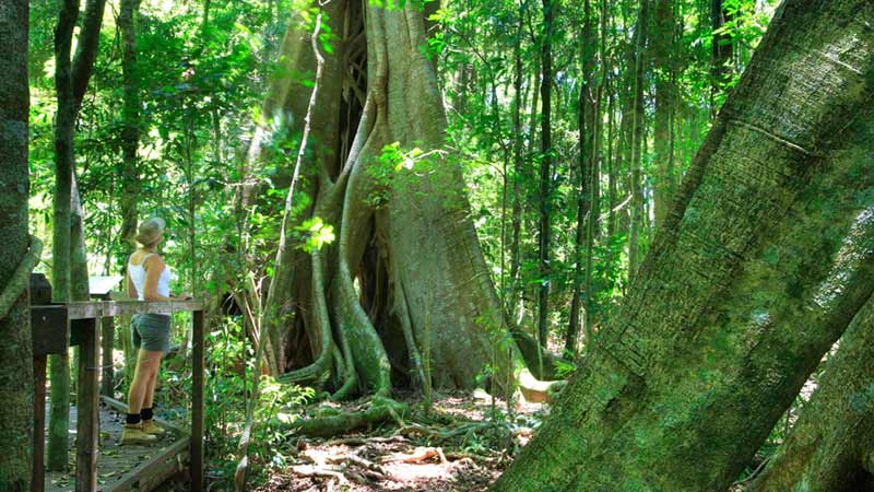
M 98 301 L 31 306 L 34 352 L 34 473 L 32 492 L 45 490 L 46 360 L 79 347 L 75 491 L 96 492 L 99 454 L 101 335 L 104 318 L 192 313 L 191 491 L 203 491 L 203 304 L 200 301 Z M 69 326 L 69 330 L 68 330 Z

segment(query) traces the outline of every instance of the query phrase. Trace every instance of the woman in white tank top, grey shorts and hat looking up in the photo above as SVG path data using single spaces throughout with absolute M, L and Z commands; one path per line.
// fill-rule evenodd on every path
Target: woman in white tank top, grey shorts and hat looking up
M 174 301 L 173 274 L 156 253 L 164 238 L 166 223 L 154 218 L 140 224 L 137 242 L 142 246 L 128 260 L 128 296 L 140 301 Z M 128 393 L 128 417 L 121 431 L 121 444 L 153 443 L 164 433 L 152 420 L 155 383 L 161 360 L 170 350 L 170 315 L 142 314 L 133 316 L 133 347 L 138 350 L 137 371 Z

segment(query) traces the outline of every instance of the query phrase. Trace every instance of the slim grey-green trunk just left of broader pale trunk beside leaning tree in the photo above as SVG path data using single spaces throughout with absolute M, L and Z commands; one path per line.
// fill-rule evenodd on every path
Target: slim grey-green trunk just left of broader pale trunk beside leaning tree
M 643 63 L 647 46 L 647 28 L 649 26 L 649 2 L 640 0 L 640 12 L 635 27 L 635 83 L 634 83 L 634 119 L 631 121 L 631 221 L 628 233 L 628 283 L 637 273 L 640 263 L 640 227 L 643 225 L 643 184 L 641 183 L 640 162 L 643 152 L 643 83 L 646 68 Z

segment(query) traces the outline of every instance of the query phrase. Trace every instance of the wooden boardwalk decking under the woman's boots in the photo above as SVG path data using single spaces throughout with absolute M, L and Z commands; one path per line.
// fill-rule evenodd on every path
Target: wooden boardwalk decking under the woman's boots
M 125 421 L 123 403 L 101 403 L 97 490 L 102 492 L 150 492 L 169 477 L 188 468 L 191 440 L 179 429 L 160 422 L 167 433 L 156 444 L 119 446 Z M 46 419 L 48 421 L 48 419 Z M 70 449 L 75 453 L 76 409 L 70 411 Z M 74 467 L 74 458 L 71 468 Z M 72 492 L 74 473 L 46 473 L 47 492 Z

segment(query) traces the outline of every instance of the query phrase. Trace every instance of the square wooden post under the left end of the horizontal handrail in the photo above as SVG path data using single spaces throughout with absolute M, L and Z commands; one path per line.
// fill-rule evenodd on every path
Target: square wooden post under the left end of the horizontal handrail
M 75 491 L 96 492 L 99 453 L 101 316 L 80 330 Z

